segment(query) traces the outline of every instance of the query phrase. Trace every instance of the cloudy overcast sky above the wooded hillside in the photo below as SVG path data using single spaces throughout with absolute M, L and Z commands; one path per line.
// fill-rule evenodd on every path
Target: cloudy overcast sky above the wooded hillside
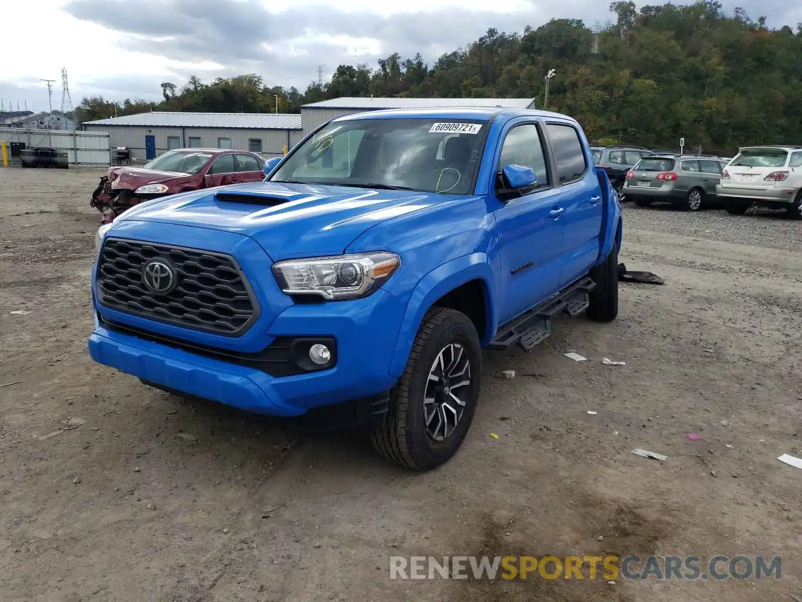
M 638 6 L 643 2 L 637 2 Z M 657 0 L 652 0 L 658 4 Z M 683 2 L 684 3 L 684 2 Z M 802 3 L 725 0 L 768 25 L 796 26 Z M 205 81 L 257 73 L 268 85 L 303 90 L 340 63 L 370 63 L 398 51 L 420 52 L 429 63 L 496 27 L 521 31 L 550 18 L 581 18 L 588 26 L 610 19 L 608 0 L 33 0 L 6 2 L 3 47 L 19 59 L 0 62 L 0 99 L 6 109 L 47 110 L 47 85 L 57 80 L 53 108 L 61 108 L 61 68 L 67 67 L 74 104 L 83 96 L 159 100 L 160 83 L 179 87 L 189 75 Z M 336 6 L 336 7 L 335 7 Z

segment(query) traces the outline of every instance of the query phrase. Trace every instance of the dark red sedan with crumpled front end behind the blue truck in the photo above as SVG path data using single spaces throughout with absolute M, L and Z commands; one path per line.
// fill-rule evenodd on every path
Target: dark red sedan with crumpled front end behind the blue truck
M 115 218 L 142 201 L 168 194 L 257 182 L 265 177 L 265 159 L 248 151 L 220 148 L 178 148 L 143 167 L 108 169 L 92 193 L 91 206 L 103 214 L 101 223 Z

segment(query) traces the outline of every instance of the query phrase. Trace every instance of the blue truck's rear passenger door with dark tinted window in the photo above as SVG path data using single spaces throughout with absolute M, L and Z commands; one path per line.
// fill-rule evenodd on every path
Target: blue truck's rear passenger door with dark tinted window
M 562 243 L 561 287 L 584 276 L 599 254 L 602 195 L 591 157 L 585 155 L 579 130 L 573 124 L 546 124 L 565 203 L 565 238 Z

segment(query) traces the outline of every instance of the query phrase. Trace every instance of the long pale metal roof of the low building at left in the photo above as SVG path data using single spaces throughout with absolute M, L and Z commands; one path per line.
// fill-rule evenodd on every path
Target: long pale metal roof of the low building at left
M 153 111 L 86 121 L 84 125 L 131 125 L 146 128 L 301 129 L 301 116 L 288 113 Z

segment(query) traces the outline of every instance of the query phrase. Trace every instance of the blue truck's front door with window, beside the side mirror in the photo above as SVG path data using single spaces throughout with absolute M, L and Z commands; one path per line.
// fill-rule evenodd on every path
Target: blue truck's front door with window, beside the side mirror
M 496 159 L 492 203 L 500 235 L 500 322 L 553 295 L 559 287 L 565 204 L 545 161 L 540 124 L 513 122 Z M 537 183 L 510 196 L 500 187 L 504 165 L 531 167 Z

